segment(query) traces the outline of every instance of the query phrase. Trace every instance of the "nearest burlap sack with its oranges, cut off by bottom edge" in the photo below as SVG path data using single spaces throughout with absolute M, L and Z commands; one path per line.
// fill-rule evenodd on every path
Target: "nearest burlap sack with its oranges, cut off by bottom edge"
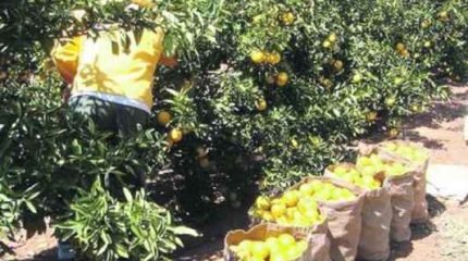
M 307 233 L 262 223 L 249 231 L 232 231 L 224 238 L 225 261 L 318 261 Z

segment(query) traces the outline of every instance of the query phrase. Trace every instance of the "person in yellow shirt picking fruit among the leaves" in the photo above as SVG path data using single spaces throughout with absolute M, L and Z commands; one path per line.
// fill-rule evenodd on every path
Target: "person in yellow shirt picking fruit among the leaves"
M 148 2 L 131 5 L 148 8 Z M 77 13 L 79 18 L 86 15 Z M 51 57 L 70 86 L 71 110 L 89 116 L 103 130 L 127 137 L 149 119 L 157 66 L 173 67 L 177 61 L 163 55 L 161 28 L 143 29 L 137 37 L 135 32 L 100 27 L 97 38 L 79 35 L 58 40 Z M 127 42 L 112 40 L 122 38 Z

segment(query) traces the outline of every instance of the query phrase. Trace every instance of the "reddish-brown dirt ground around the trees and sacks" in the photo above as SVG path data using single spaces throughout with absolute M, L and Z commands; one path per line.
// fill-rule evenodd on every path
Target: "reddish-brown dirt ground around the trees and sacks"
M 422 141 L 431 151 L 433 163 L 468 165 L 468 146 L 463 140 L 463 116 L 468 111 L 468 86 L 454 86 L 451 102 L 435 102 L 422 115 L 408 119 L 404 138 Z M 428 197 L 431 222 L 412 227 L 412 240 L 394 245 L 392 258 L 398 261 L 461 261 L 468 260 L 468 206 Z M 246 209 L 222 216 L 219 223 L 206 227 L 205 237 L 190 240 L 176 260 L 222 260 L 222 238 L 233 228 L 248 224 Z M 54 260 L 57 240 L 47 232 L 37 235 L 14 253 L 0 260 Z

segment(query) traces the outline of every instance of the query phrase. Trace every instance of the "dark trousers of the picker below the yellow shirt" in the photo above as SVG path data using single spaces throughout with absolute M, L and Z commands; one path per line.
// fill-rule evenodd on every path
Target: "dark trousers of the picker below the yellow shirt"
M 93 96 L 70 99 L 73 112 L 89 116 L 104 132 L 128 137 L 146 126 L 149 114 L 140 109 L 101 100 Z

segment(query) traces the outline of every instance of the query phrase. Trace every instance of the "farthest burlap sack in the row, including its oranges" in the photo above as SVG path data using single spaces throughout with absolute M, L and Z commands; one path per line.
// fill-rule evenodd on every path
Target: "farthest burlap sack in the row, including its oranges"
M 428 201 L 426 200 L 427 172 L 429 165 L 429 152 L 420 145 L 404 140 L 382 142 L 378 146 L 378 153 L 382 158 L 389 158 L 396 162 L 412 165 L 415 208 L 411 213 L 411 223 L 428 221 Z

